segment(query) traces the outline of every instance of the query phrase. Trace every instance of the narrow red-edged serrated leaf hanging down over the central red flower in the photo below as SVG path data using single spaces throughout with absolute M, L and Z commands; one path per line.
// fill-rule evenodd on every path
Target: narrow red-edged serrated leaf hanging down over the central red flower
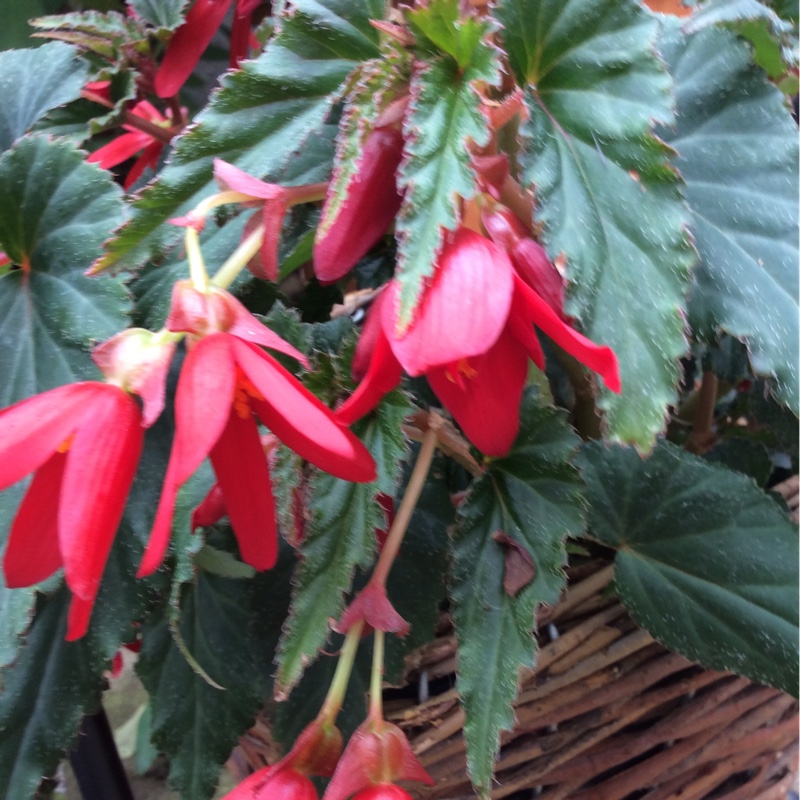
M 490 23 L 481 25 L 488 35 Z M 474 84 L 495 86 L 500 78 L 498 51 L 486 41 L 475 45 L 464 69 L 440 56 L 429 59 L 412 78 L 398 177 L 406 193 L 396 226 L 398 324 L 403 328 L 412 320 L 425 280 L 434 273 L 446 231 L 458 226 L 459 198 L 469 200 L 476 192 L 469 146 L 486 144 L 489 131 Z

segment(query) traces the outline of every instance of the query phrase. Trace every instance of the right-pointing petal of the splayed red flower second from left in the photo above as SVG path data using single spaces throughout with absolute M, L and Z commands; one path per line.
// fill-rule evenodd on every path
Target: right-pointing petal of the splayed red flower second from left
M 261 421 L 306 461 L 348 481 L 375 480 L 375 462 L 358 437 L 272 356 L 234 340 L 236 363 L 263 395 L 251 405 Z

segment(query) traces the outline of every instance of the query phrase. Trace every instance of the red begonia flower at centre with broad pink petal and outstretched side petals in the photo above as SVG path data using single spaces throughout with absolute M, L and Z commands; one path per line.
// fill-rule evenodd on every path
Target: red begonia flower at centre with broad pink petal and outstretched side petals
M 564 322 L 515 272 L 508 255 L 466 228 L 445 244 L 416 319 L 397 332 L 399 285 L 373 304 L 353 366 L 364 380 L 337 415 L 352 424 L 400 380 L 401 368 L 425 375 L 467 438 L 482 452 L 508 452 L 519 429 L 528 358 L 544 368 L 533 325 L 581 363 L 621 389 L 617 359 Z M 371 353 L 362 342 L 374 342 Z

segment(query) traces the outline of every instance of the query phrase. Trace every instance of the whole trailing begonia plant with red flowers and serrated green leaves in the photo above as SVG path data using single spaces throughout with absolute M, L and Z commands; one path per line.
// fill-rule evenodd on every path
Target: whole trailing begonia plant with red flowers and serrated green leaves
M 230 800 L 407 798 L 382 687 L 443 614 L 486 797 L 568 557 L 613 559 L 667 648 L 796 690 L 766 490 L 798 459 L 794 4 L 30 24 L 0 52 L 0 798 L 123 644 L 187 800 L 265 705 L 286 755 Z

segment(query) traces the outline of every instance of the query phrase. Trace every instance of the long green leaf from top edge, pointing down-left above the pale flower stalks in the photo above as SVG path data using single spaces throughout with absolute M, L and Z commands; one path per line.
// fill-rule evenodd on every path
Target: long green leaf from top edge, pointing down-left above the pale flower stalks
M 382 11 L 376 0 L 292 3 L 266 51 L 222 79 L 98 267 L 138 266 L 174 245 L 181 231 L 163 223 L 214 193 L 214 158 L 280 179 L 287 162 L 324 129 L 350 71 L 378 55 L 378 32 L 369 20 Z

